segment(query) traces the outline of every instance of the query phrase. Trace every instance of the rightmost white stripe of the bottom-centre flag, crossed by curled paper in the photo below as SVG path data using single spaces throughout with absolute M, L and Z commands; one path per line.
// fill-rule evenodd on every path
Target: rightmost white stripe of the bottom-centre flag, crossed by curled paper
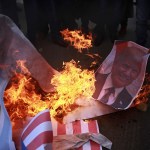
M 88 122 L 81 120 L 81 132 L 82 133 L 89 132 Z M 91 150 L 90 141 L 83 145 L 83 150 Z

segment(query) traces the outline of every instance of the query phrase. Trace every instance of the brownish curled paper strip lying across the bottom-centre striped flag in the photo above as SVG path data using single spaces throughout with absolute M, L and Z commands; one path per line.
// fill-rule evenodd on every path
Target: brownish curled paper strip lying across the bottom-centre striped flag
M 103 147 L 111 149 L 112 142 L 100 133 L 83 133 L 76 135 L 58 135 L 54 137 L 53 149 L 76 149 L 89 141 L 94 141 Z

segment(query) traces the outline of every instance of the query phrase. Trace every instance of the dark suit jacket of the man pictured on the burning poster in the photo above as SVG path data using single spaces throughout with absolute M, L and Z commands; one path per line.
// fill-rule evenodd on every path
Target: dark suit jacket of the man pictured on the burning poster
M 95 78 L 96 78 L 95 88 L 96 88 L 96 90 L 95 90 L 95 93 L 93 94 L 93 97 L 95 99 L 98 98 L 107 77 L 108 77 L 108 74 L 96 73 L 96 75 L 95 75 Z M 133 99 L 133 97 L 124 88 L 119 93 L 119 95 L 117 96 L 115 102 L 111 106 L 116 108 L 116 109 L 125 109 L 130 105 L 130 103 L 132 102 L 132 99 Z

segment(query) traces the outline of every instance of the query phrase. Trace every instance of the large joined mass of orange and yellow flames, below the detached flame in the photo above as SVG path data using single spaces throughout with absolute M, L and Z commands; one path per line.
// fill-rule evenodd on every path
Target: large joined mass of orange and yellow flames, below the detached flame
M 53 93 L 40 89 L 25 67 L 25 61 L 18 61 L 17 64 L 21 73 L 15 72 L 4 92 L 5 107 L 11 121 L 35 116 L 47 108 L 51 109 L 53 117 L 61 120 L 78 107 L 76 99 L 88 98 L 94 93 L 94 72 L 82 70 L 75 61 L 64 63 L 64 70 L 52 78 L 51 84 L 55 86 Z

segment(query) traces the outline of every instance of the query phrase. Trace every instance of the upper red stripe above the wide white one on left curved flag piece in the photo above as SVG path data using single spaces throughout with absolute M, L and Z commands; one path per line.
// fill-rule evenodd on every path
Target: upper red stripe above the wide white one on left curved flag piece
M 25 132 L 22 134 L 22 139 L 24 140 L 34 128 L 36 128 L 38 125 L 40 125 L 43 122 L 50 121 L 50 113 L 44 112 L 40 114 L 35 120 L 27 127 Z

